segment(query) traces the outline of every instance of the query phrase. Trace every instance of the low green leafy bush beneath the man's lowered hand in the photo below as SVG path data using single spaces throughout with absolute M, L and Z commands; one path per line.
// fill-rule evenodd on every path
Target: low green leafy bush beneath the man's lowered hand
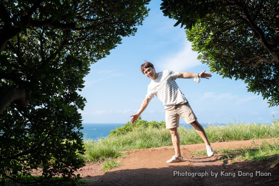
M 161 128 L 161 127 L 165 127 L 165 126 L 166 126 L 166 123 L 164 121 L 161 121 L 161 122 L 150 121 L 150 122 L 148 122 L 146 120 L 142 120 L 141 116 L 140 116 L 140 118 L 134 124 L 128 121 L 122 127 L 117 126 L 115 130 L 111 130 L 109 137 L 114 136 L 114 135 L 126 134 L 126 133 L 131 132 L 135 129 Z

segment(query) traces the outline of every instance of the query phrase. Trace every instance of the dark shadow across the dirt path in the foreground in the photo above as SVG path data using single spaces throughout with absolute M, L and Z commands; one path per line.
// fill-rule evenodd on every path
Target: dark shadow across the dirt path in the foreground
M 224 160 L 197 157 L 187 159 L 189 165 L 171 163 L 163 168 L 111 170 L 86 179 L 91 180 L 88 185 L 279 185 L 278 167 L 268 169 L 276 159 L 227 164 Z M 200 162 L 207 165 L 199 165 Z

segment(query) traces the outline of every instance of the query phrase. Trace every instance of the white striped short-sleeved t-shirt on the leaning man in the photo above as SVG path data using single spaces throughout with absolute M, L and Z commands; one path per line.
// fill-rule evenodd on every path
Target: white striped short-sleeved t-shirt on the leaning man
M 155 80 L 151 80 L 148 85 L 146 97 L 153 98 L 154 95 L 159 98 L 165 109 L 188 102 L 184 94 L 179 90 L 178 85 L 174 80 L 178 77 L 179 72 L 172 70 L 164 70 L 159 72 Z

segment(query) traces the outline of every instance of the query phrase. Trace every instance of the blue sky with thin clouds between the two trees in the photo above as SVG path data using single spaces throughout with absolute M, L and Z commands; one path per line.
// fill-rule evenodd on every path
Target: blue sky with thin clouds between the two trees
M 183 28 L 173 27 L 175 20 L 163 16 L 159 0 L 148 5 L 149 16 L 138 27 L 135 36 L 125 37 L 111 54 L 91 65 L 85 77 L 85 88 L 79 92 L 87 99 L 80 111 L 83 123 L 126 123 L 135 114 L 147 92 L 151 79 L 140 71 L 144 60 L 152 62 L 157 72 L 209 72 L 200 63 L 198 54 L 191 51 Z M 271 122 L 279 117 L 278 107 L 268 107 L 261 95 L 247 92 L 241 80 L 212 77 L 201 79 L 177 79 L 176 82 L 189 101 L 200 123 Z M 164 106 L 154 97 L 142 119 L 164 121 Z M 185 121 L 180 118 L 180 123 Z

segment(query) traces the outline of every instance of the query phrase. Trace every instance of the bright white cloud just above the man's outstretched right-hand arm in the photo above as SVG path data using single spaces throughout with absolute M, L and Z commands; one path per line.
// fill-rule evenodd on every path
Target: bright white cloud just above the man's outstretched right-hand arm
M 162 69 L 173 70 L 176 72 L 185 71 L 202 64 L 197 59 L 197 56 L 198 54 L 191 50 L 191 43 L 185 42 L 183 49 L 160 59 L 160 66 Z

